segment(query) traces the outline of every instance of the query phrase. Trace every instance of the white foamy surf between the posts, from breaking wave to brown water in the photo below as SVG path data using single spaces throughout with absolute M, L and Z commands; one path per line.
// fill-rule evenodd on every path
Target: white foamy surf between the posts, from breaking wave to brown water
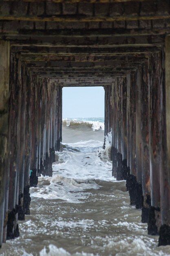
M 64 119 L 64 125 L 68 119 Z M 96 120 L 78 120 L 69 119 L 69 124 L 66 124 L 70 132 L 72 132 L 71 125 L 74 125 L 74 131 L 86 130 L 82 132 L 82 140 L 75 143 L 62 143 L 61 152 L 55 154 L 59 160 L 53 164 L 53 177 L 39 178 L 39 184 L 48 181 L 46 185 L 32 188 L 31 196 L 44 199 L 61 199 L 70 203 L 78 203 L 80 200 L 89 196 L 88 192 L 79 193 L 80 191 L 89 189 L 99 189 L 101 186 L 95 180 L 113 181 L 115 180 L 111 175 L 112 163 L 108 158 L 111 148 L 111 133 L 106 138 L 106 147 L 104 144 L 104 131 L 101 128 L 104 123 Z M 104 120 L 103 120 L 104 121 Z M 93 129 L 93 124 L 98 124 L 97 129 Z M 90 124 L 90 126 L 89 126 Z M 98 130 L 102 131 L 101 133 Z M 96 139 L 85 140 L 88 136 Z M 68 141 L 70 141 L 70 135 Z M 98 140 L 97 140 L 98 139 Z M 77 141 L 76 137 L 72 140 Z

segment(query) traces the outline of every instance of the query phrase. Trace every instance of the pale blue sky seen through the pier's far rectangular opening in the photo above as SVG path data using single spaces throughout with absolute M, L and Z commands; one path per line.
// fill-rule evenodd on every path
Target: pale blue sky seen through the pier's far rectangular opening
M 62 88 L 63 118 L 104 117 L 103 87 Z

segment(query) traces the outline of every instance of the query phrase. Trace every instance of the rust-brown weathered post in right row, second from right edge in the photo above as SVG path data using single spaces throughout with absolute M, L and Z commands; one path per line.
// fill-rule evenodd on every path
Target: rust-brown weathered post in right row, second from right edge
M 149 155 L 151 206 L 148 234 L 158 235 L 160 228 L 160 138 L 161 138 L 161 53 L 153 53 L 149 85 Z

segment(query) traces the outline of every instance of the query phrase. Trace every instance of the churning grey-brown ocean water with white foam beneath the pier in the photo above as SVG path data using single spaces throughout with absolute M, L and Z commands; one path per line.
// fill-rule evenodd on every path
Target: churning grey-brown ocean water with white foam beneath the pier
M 147 235 L 125 181 L 112 177 L 110 141 L 103 149 L 104 119 L 63 120 L 53 177 L 31 188 L 31 215 L 1 256 L 170 256 L 170 246 Z

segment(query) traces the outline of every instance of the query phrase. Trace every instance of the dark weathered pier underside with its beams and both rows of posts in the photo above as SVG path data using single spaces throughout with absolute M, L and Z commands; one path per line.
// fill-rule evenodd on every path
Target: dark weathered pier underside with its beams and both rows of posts
M 0 0 L 0 245 L 52 175 L 64 86 L 104 87 L 113 176 L 170 245 L 169 0 Z

